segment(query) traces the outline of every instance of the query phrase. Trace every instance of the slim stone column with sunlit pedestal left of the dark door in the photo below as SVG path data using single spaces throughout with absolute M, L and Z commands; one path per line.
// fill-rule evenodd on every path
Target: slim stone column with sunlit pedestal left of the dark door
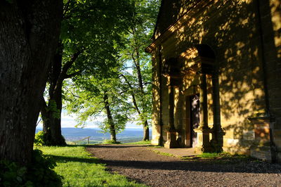
M 169 88 L 169 129 L 167 130 L 167 141 L 164 148 L 176 148 L 176 128 L 174 124 L 174 86 L 168 85 Z

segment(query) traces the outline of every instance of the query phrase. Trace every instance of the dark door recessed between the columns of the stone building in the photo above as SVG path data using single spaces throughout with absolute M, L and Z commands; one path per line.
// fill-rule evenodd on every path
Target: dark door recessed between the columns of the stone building
M 199 95 L 190 96 L 190 145 L 194 148 L 197 145 L 197 129 L 200 123 L 200 99 Z

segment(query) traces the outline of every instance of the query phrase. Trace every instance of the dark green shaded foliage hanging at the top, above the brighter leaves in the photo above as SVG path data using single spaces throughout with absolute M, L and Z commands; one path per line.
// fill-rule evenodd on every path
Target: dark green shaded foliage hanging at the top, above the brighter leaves
M 78 75 L 99 74 L 100 67 L 107 68 L 115 60 L 122 34 L 126 33 L 132 15 L 127 0 L 65 2 L 61 39 L 63 63 L 72 54 L 82 51 L 68 71 Z

